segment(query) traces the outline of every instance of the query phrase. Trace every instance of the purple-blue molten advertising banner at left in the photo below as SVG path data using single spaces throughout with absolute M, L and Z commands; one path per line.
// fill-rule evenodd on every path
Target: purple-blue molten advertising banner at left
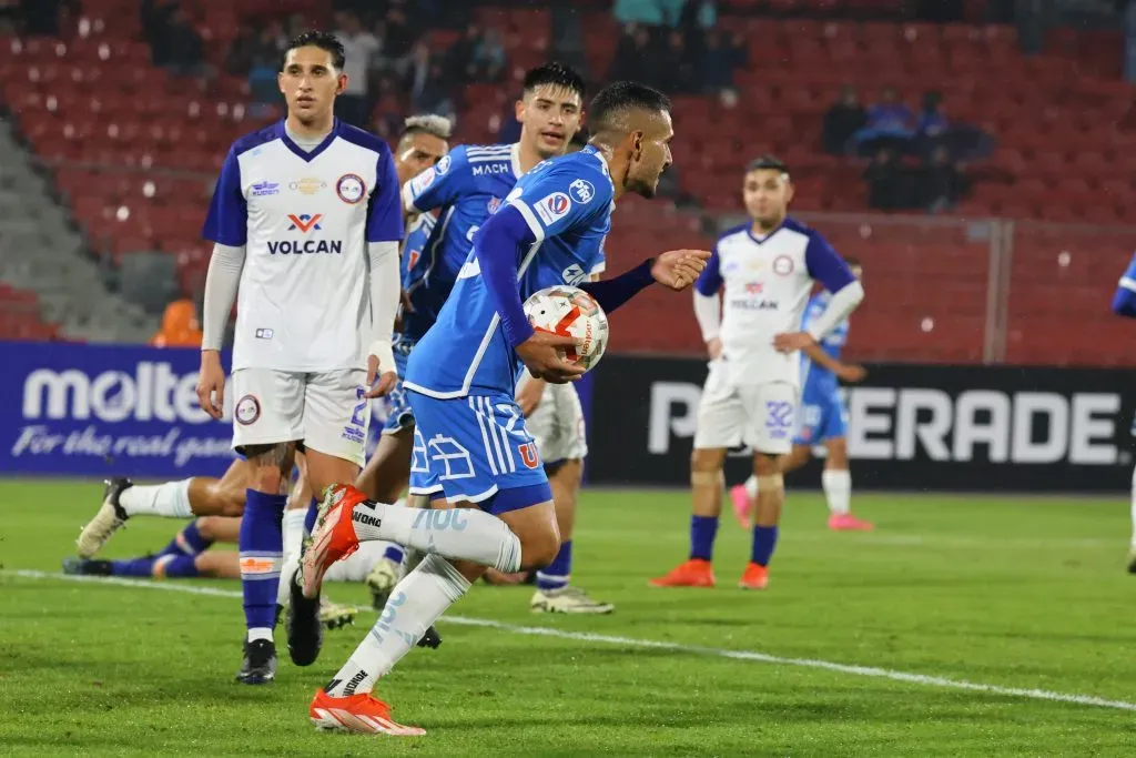
M 219 476 L 231 408 L 217 422 L 198 407 L 199 363 L 197 350 L 0 342 L 0 473 Z

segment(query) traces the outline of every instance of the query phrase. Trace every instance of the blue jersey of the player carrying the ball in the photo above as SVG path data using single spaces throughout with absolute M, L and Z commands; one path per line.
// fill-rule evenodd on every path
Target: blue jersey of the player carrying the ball
M 536 240 L 517 261 L 521 300 L 548 286 L 587 280 L 602 261 L 613 197 L 607 160 L 591 147 L 538 164 L 520 178 L 506 205 L 520 213 Z M 475 236 L 475 249 L 483 239 Z M 493 392 L 511 397 L 519 370 L 476 255 L 470 255 L 437 323 L 410 356 L 406 385 L 442 399 Z

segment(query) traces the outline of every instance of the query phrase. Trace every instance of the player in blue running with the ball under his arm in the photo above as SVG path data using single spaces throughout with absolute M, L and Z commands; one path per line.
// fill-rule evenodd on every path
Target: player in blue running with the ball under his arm
M 590 145 L 542 163 L 504 198 L 474 236 L 437 323 L 410 356 L 404 384 L 415 411 L 411 486 L 433 510 L 366 500 L 335 488 L 320 507 L 303 561 L 303 586 L 318 593 L 327 566 L 386 539 L 429 555 L 391 593 L 375 627 L 309 708 L 324 728 L 421 734 L 391 719 L 371 697 L 379 676 L 415 645 L 486 566 L 512 573 L 549 565 L 560 550 L 556 508 L 533 438 L 513 400 L 521 366 L 565 383 L 584 372 L 568 363 L 573 340 L 535 332 L 523 301 L 588 270 L 625 192 L 653 197 L 670 164 L 670 103 L 651 88 L 620 82 L 591 103 Z M 609 314 L 659 282 L 688 288 L 710 257 L 676 250 L 604 282 L 579 286 Z

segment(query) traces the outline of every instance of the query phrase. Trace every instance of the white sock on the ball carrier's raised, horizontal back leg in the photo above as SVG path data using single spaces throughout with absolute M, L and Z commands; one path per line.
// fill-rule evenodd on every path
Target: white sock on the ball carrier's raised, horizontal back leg
M 507 574 L 520 570 L 520 540 L 503 520 L 476 508 L 431 510 L 364 500 L 351 520 L 360 542 L 385 540 Z

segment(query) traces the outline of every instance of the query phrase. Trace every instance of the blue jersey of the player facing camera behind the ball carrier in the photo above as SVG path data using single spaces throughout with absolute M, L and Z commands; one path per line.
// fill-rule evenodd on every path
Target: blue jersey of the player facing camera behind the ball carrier
M 404 285 L 414 313 L 403 318 L 402 331 L 411 340 L 420 339 L 437 319 L 473 250 L 474 235 L 519 177 L 518 145 L 458 145 L 407 182 L 402 191 L 407 210 L 437 211 L 437 223 L 414 261 L 415 281 Z

